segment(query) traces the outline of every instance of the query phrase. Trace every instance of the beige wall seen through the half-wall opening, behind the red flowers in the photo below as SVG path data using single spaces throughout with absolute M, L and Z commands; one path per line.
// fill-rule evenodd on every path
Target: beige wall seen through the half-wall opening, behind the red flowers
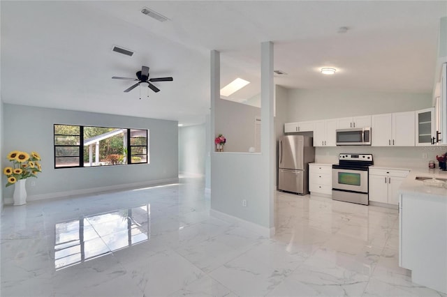
M 214 138 L 219 134 L 226 137 L 223 151 L 248 152 L 255 147 L 255 119 L 261 118 L 260 108 L 219 99 L 216 111 Z

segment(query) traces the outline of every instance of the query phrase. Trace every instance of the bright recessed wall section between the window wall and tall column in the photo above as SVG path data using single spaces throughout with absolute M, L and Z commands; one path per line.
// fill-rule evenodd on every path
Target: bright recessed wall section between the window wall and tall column
M 205 124 L 179 128 L 179 172 L 205 175 L 205 137 Z

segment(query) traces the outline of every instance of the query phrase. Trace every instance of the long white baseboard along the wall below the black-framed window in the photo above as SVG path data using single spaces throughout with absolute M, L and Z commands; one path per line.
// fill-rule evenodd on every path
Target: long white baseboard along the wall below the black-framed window
M 145 186 L 153 186 L 153 185 L 167 185 L 170 183 L 178 183 L 179 178 L 166 178 L 166 179 L 159 179 L 155 181 L 142 181 L 138 183 L 123 183 L 120 185 L 106 185 L 105 187 L 97 187 L 97 188 L 89 188 L 89 189 L 81 189 L 81 190 L 70 190 L 70 191 L 62 191 L 62 192 L 52 192 L 52 193 L 46 193 L 46 194 L 39 194 L 39 195 L 29 195 L 27 197 L 27 201 L 39 201 L 39 200 L 45 200 L 45 199 L 55 199 L 55 198 L 61 198 L 61 197 L 70 197 L 70 196 L 78 196 L 78 195 L 87 195 L 87 194 L 94 194 L 94 193 L 100 193 L 100 192 L 108 192 L 108 191 L 115 191 L 115 190 L 126 190 L 131 188 L 141 188 Z M 13 197 L 6 197 L 3 199 L 4 204 L 13 204 L 14 200 Z

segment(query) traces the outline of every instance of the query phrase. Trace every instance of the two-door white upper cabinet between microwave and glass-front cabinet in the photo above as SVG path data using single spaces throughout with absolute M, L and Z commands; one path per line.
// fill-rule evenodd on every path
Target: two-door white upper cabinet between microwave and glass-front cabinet
M 415 113 L 373 114 L 372 146 L 414 146 Z

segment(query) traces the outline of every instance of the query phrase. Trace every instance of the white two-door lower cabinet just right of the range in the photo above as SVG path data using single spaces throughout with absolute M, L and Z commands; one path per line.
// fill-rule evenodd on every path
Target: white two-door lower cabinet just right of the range
M 397 205 L 397 190 L 409 174 L 400 169 L 369 169 L 369 201 Z

